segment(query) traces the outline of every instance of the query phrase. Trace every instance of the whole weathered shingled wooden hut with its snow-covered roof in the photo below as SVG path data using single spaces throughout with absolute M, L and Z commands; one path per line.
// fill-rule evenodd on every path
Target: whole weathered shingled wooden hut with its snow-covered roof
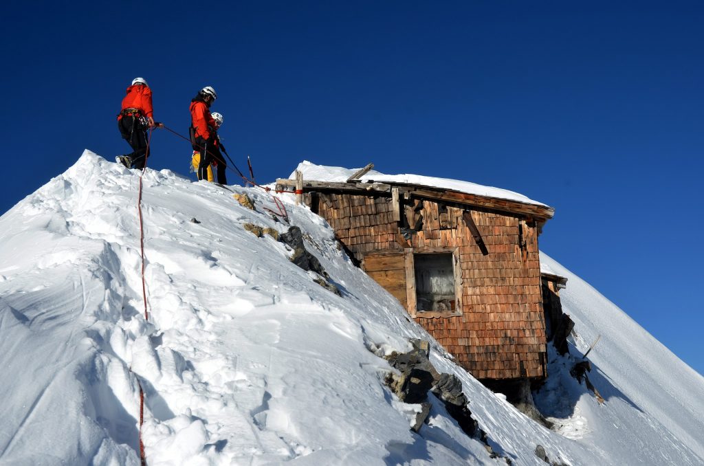
M 299 168 L 303 201 L 474 377 L 546 375 L 538 235 L 553 208 L 453 180 Z

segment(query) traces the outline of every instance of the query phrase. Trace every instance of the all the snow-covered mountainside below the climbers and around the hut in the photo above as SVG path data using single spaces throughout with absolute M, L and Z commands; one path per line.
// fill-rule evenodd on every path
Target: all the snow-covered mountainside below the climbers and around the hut
M 213 184 L 146 170 L 147 322 L 138 179 L 86 151 L 0 218 L 1 465 L 139 464 L 138 380 L 149 465 L 505 464 L 441 403 L 410 432 L 415 408 L 384 387 L 389 366 L 370 348 L 406 351 L 408 338 L 430 337 L 353 267 L 322 219 L 288 199 L 291 224 L 342 296 L 290 263 L 284 244 L 243 228 L 286 231 L 263 213 L 270 194 L 232 187 L 252 211 Z M 565 391 L 551 405 L 572 434 L 528 420 L 432 351 L 462 379 L 494 451 L 521 465 L 544 464 L 537 443 L 572 465 L 702 464 L 702 378 L 563 273 L 575 343 L 584 350 L 603 334 L 590 377 L 607 398 L 598 405 L 572 379 L 546 389 L 543 402 Z

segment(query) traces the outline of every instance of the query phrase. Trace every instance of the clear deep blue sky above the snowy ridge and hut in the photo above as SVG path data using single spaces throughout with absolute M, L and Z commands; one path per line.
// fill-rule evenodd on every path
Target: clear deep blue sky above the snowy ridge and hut
M 135 76 L 182 133 L 211 85 L 260 182 L 374 162 L 554 206 L 541 249 L 704 372 L 702 2 L 18 3 L 0 7 L 1 212 L 83 149 L 129 151 Z M 187 175 L 187 142 L 152 147 Z

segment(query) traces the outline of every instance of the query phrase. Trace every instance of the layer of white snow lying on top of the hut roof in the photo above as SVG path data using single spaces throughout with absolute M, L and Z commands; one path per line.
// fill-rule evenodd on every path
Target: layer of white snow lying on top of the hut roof
M 315 180 L 315 181 L 326 181 L 326 182 L 345 182 L 354 172 L 359 170 L 358 168 L 343 168 L 343 167 L 328 167 L 325 165 L 315 165 L 315 163 L 310 163 L 308 160 L 303 160 L 303 162 L 298 164 L 296 170 L 303 172 L 303 180 Z M 289 176 L 290 179 L 295 178 L 295 170 Z M 400 184 L 419 184 L 421 186 L 430 188 L 440 188 L 440 189 L 451 189 L 453 191 L 459 191 L 466 194 L 475 194 L 477 196 L 486 196 L 496 199 L 508 199 L 510 201 L 517 201 L 527 204 L 534 204 L 536 206 L 546 206 L 538 201 L 529 199 L 527 196 L 518 194 L 514 191 L 508 191 L 508 189 L 495 188 L 491 186 L 483 186 L 482 184 L 476 184 L 468 181 L 451 180 L 449 178 L 436 178 L 436 177 L 426 177 L 423 175 L 384 175 L 382 172 L 377 172 L 376 170 L 370 170 L 367 174 L 360 177 L 363 182 L 386 182 L 386 183 L 400 183 Z

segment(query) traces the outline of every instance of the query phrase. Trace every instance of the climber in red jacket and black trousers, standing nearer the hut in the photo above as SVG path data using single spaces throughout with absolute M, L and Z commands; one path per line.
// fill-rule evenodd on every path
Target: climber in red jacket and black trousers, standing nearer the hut
M 207 180 L 208 165 L 213 164 L 218 167 L 218 184 L 227 184 L 227 164 L 220 153 L 218 125 L 213 120 L 213 115 L 210 115 L 210 106 L 216 98 L 215 89 L 206 86 L 191 99 L 191 139 L 193 150 L 201 153 L 198 179 Z

